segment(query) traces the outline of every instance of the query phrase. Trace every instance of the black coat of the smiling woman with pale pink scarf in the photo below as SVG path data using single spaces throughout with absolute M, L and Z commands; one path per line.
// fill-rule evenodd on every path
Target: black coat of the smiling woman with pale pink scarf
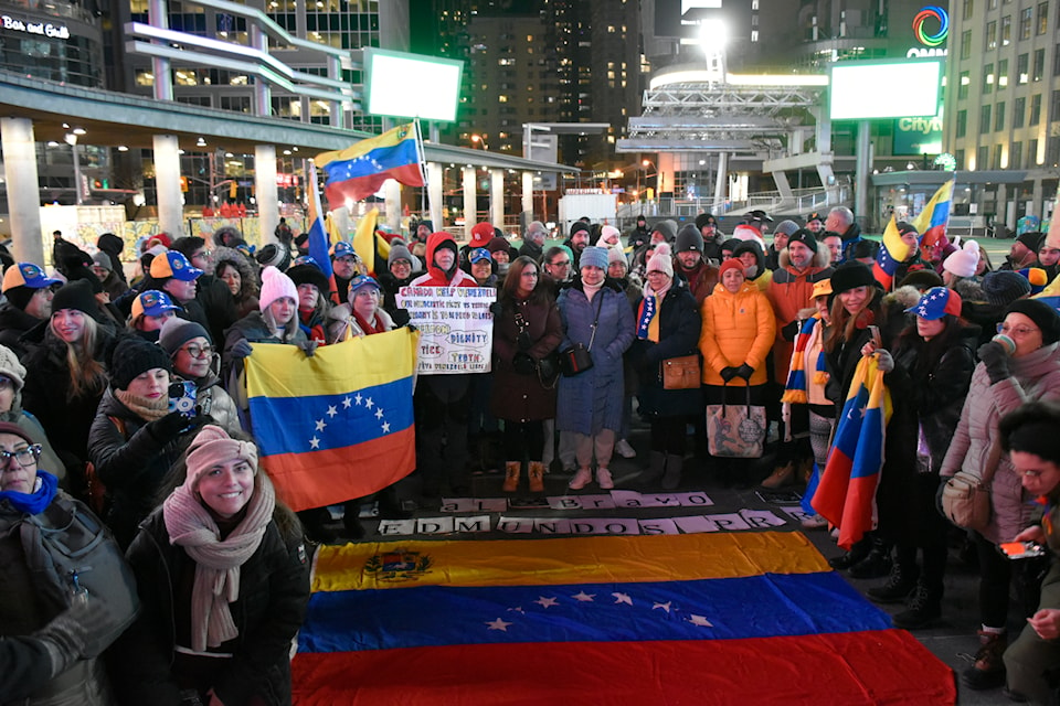
M 290 643 L 309 601 L 309 561 L 300 532 L 282 530 L 297 526 L 288 515 L 276 510 L 261 546 L 240 569 L 240 596 L 230 605 L 240 634 L 218 648 L 232 657 L 213 683 L 225 704 L 247 704 L 253 697 L 268 706 L 290 704 Z M 178 612 L 174 600 L 190 595 L 186 581 L 194 574 L 194 561 L 170 544 L 161 510 L 140 526 L 127 558 L 139 587 L 140 616 L 113 648 L 112 664 L 120 665 L 115 689 L 123 704 L 178 706 L 174 616 L 190 609 Z

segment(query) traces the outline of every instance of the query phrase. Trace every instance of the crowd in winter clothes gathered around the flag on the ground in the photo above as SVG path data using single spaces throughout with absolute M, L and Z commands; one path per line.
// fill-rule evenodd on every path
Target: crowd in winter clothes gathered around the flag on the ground
M 899 223 L 909 254 L 884 287 L 879 244 L 849 210 L 799 221 L 754 211 L 727 237 L 711 214 L 681 226 L 639 217 L 625 234 L 585 218 L 551 246 L 539 222 L 521 243 L 479 223 L 460 246 L 420 221 L 409 240 L 377 245 L 373 272 L 350 243 L 332 244 L 330 276 L 289 227 L 257 252 L 225 227 L 142 243 L 131 281 L 120 238 L 102 236 L 89 255 L 56 233 L 53 271 L 13 263 L 3 274 L 0 522 L 62 532 L 64 517 L 98 516 L 139 610 L 108 606 L 119 581 L 89 588 L 97 610 L 84 608 L 76 573 L 41 585 L 31 557 L 47 550 L 42 533 L 3 534 L 14 568 L 0 644 L 23 662 L 0 680 L 0 700 L 289 703 L 288 652 L 309 595 L 304 537 L 358 539 L 364 503 L 407 517 L 414 503 L 468 493 L 475 474 L 502 477 L 506 493 L 542 493 L 550 473 L 571 491 L 613 489 L 614 454 L 637 456 L 635 411 L 650 442 L 632 488 L 679 488 L 689 446 L 725 485 L 805 483 L 826 468 L 871 356 L 893 402 L 878 523 L 833 565 L 883 579 L 868 596 L 905 602 L 898 627 L 932 624 L 955 533 L 940 489 L 962 470 L 983 473 L 993 515 L 966 533 L 983 646 L 964 678 L 1000 686 L 1008 665 L 1013 692 L 1045 703 L 1060 666 L 1054 573 L 1047 558 L 1014 563 L 997 548 L 1058 542 L 1060 314 L 1030 298 L 1056 278 L 1058 244 L 1021 234 L 995 269 L 974 242 L 922 246 Z M 240 373 L 253 343 L 312 356 L 409 325 L 406 286 L 497 290 L 490 372 L 418 375 L 413 496 L 403 483 L 347 499 L 336 532 L 328 509 L 287 510 L 259 469 Z M 764 410 L 741 438 L 761 448 L 774 431 L 771 472 L 755 475 L 761 451 L 722 450 L 730 439 L 709 419 L 729 407 L 749 421 Z M 1014 580 L 1030 622 L 1006 651 Z M 10 608 L 23 603 L 33 610 Z M 100 659 L 85 625 L 108 620 Z

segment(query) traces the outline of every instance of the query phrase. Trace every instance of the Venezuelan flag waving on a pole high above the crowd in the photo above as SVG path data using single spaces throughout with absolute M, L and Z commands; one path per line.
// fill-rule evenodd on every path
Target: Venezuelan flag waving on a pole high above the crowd
M 315 161 L 327 176 L 325 193 L 333 211 L 347 200 L 371 196 L 388 179 L 423 186 L 422 151 L 418 128 L 409 122 L 344 150 L 321 152 Z

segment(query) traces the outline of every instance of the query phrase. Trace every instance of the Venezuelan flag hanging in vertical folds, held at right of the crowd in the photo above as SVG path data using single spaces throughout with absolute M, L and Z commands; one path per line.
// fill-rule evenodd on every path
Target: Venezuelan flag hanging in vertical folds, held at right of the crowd
M 836 427 L 828 462 L 812 504 L 839 527 L 839 546 L 850 548 L 876 526 L 876 489 L 883 466 L 883 439 L 891 395 L 875 356 L 858 363 Z

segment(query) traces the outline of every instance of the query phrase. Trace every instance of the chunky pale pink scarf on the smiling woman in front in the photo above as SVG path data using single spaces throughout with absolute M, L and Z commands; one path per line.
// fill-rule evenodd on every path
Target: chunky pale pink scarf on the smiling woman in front
M 262 544 L 275 506 L 273 483 L 258 472 L 246 516 L 222 541 L 216 521 L 187 485 L 177 488 L 162 503 L 170 544 L 182 547 L 195 563 L 190 645 L 195 652 L 239 637 L 229 603 L 240 597 L 240 569 Z

